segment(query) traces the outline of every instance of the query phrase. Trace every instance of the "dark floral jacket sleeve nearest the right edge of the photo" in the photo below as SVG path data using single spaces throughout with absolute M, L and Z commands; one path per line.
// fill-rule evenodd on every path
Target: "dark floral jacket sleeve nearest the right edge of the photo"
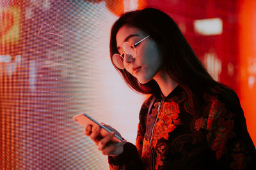
M 256 169 L 256 152 L 237 101 L 218 97 L 207 120 L 207 143 L 221 169 Z

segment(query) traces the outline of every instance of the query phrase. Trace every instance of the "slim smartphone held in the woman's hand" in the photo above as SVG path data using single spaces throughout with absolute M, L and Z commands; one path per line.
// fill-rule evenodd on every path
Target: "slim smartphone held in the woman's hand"
M 75 120 L 78 124 L 82 125 L 83 127 L 87 127 L 88 125 L 92 125 L 92 130 L 96 129 L 97 127 L 101 127 L 100 129 L 100 136 L 103 138 L 104 136 L 107 136 L 111 130 L 109 130 L 107 127 L 104 127 L 104 125 L 99 124 L 96 120 L 94 120 L 92 117 L 87 115 L 86 113 L 81 113 L 79 115 L 76 115 L 73 117 L 73 120 Z M 111 140 L 115 143 L 122 142 L 123 139 L 115 134 L 115 137 Z

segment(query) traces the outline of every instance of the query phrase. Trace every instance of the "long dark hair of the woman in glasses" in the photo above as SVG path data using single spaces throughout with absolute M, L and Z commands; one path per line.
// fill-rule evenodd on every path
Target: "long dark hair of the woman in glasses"
M 174 81 L 191 90 L 196 98 L 195 101 L 198 101 L 196 105 L 199 105 L 202 101 L 204 92 L 227 91 L 227 86 L 215 81 L 206 71 L 174 20 L 163 11 L 154 8 L 130 11 L 116 20 L 111 29 L 110 56 L 118 53 L 116 33 L 124 25 L 141 29 L 156 41 L 159 49 L 163 52 L 163 69 L 168 71 Z M 117 70 L 122 74 L 131 89 L 142 94 L 157 94 L 160 92 L 156 81 L 150 80 L 148 83 L 141 84 L 125 69 Z

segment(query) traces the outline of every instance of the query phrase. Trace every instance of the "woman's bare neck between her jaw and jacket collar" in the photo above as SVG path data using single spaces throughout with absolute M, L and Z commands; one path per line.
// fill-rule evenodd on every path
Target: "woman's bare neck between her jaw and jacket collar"
M 156 76 L 154 76 L 154 80 L 159 85 L 164 97 L 168 96 L 179 84 L 174 81 L 166 71 L 159 71 Z

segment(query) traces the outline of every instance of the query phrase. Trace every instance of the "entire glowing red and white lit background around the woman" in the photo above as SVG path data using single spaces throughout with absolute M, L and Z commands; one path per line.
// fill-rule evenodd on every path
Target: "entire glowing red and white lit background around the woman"
M 212 76 L 236 90 L 255 142 L 255 32 L 244 26 L 251 23 L 255 28 L 255 18 L 247 17 L 256 16 L 255 3 L 1 0 L 0 4 L 0 169 L 108 169 L 107 157 L 72 120 L 82 112 L 135 143 L 138 113 L 147 96 L 129 89 L 111 65 L 109 32 L 122 13 L 145 6 L 173 17 Z

